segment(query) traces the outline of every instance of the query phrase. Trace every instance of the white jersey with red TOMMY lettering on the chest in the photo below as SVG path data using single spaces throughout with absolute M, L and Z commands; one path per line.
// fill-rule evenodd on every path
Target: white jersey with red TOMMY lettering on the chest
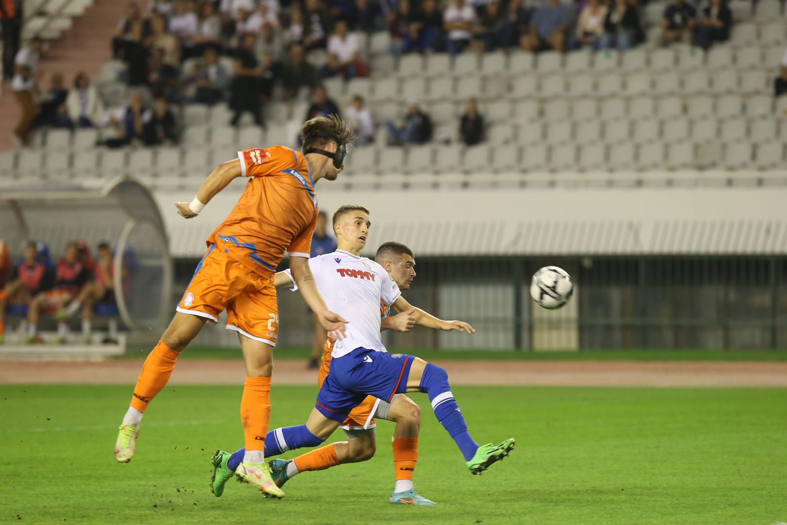
M 385 269 L 342 250 L 312 257 L 309 268 L 327 308 L 347 320 L 345 337 L 334 344 L 331 356 L 342 357 L 360 347 L 387 352 L 380 341 L 380 301 L 393 305 L 401 292 Z M 286 273 L 292 279 L 289 269 Z M 294 280 L 291 290 L 297 290 Z

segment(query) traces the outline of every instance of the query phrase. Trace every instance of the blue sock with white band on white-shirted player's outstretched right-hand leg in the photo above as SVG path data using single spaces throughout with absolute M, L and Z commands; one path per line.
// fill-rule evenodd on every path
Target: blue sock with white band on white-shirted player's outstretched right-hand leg
M 423 369 L 419 389 L 429 396 L 434 416 L 438 418 L 438 421 L 456 442 L 464 460 L 471 460 L 475 456 L 475 451 L 478 450 L 478 443 L 473 441 L 467 431 L 467 423 L 464 423 L 459 405 L 453 398 L 451 386 L 448 384 L 448 372 L 434 364 L 427 363 L 426 368 Z

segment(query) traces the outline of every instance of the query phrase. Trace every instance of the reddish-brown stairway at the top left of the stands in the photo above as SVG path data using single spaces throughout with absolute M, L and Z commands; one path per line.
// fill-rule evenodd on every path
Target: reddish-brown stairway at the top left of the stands
M 146 3 L 146 0 L 139 2 L 142 10 Z M 95 0 L 82 17 L 73 20 L 71 29 L 59 39 L 46 43 L 39 63 L 39 70 L 44 75 L 39 86 L 42 91 L 49 87 L 53 72 L 63 73 L 67 87 L 71 87 L 79 71 L 87 72 L 91 79 L 95 79 L 102 64 L 112 58 L 111 40 L 125 8 L 126 2 Z M 0 94 L 0 115 L 3 116 L 0 119 L 0 151 L 3 151 L 13 146 L 11 135 L 20 116 L 9 83 L 3 84 Z

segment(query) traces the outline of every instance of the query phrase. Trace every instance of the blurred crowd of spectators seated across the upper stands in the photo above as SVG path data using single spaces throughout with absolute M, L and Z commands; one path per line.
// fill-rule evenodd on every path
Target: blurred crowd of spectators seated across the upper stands
M 17 126 L 27 143 L 35 124 L 61 128 L 111 126 L 107 146 L 176 143 L 173 105 L 227 102 L 230 124 L 245 113 L 265 125 L 265 105 L 275 90 L 286 100 L 311 93 L 305 117 L 345 113 L 370 139 L 371 116 L 356 98 L 342 112 L 321 86 L 323 79 L 368 76 L 367 37 L 390 34 L 389 52 L 492 50 L 628 50 L 645 38 L 644 0 L 152 0 L 145 10 L 128 2 L 111 42 L 123 63 L 116 81 L 131 88 L 127 104 L 105 109 L 87 75 L 67 87 L 53 76 L 50 89 L 36 91 L 41 43 L 17 53 L 13 91 L 24 116 Z M 726 0 L 671 0 L 663 11 L 663 45 L 685 43 L 704 49 L 730 37 Z M 323 53 L 319 65 L 309 60 Z M 785 57 L 787 58 L 787 57 Z M 774 91 L 787 89 L 787 62 Z M 417 102 L 402 121 L 386 123 L 392 143 L 430 135 Z M 460 135 L 471 143 L 483 136 L 475 102 L 468 102 Z M 478 131 L 480 128 L 481 131 Z

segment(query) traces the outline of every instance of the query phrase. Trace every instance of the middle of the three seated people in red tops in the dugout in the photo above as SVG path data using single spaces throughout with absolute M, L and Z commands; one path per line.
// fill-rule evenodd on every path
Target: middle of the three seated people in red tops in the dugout
M 87 283 L 89 272 L 79 262 L 79 249 L 76 242 L 69 242 L 65 247 L 65 256 L 57 262 L 55 268 L 54 287 L 52 290 L 41 292 L 33 298 L 28 308 L 28 337 L 25 342 L 43 342 L 38 335 L 39 313 L 41 310 L 57 310 L 76 298 L 79 291 Z M 57 324 L 57 339 L 55 342 L 65 342 L 68 327 L 65 323 Z

